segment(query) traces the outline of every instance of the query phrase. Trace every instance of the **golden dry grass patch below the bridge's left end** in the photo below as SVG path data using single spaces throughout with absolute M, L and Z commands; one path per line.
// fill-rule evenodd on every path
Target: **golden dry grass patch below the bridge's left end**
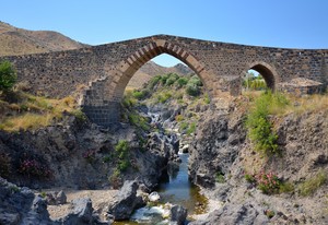
M 63 111 L 75 111 L 75 102 L 72 97 L 49 99 L 25 93 L 20 93 L 20 103 L 0 103 L 1 130 L 9 132 L 35 130 L 50 125 L 54 119 L 61 119 Z M 12 116 L 3 115 L 9 110 L 13 111 Z

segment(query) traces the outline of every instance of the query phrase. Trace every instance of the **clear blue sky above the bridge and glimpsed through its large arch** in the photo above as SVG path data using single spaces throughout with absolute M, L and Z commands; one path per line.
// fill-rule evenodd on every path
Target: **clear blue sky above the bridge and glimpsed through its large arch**
M 0 21 L 98 45 L 169 34 L 245 45 L 328 48 L 328 0 L 0 0 Z M 172 66 L 175 61 L 157 59 Z

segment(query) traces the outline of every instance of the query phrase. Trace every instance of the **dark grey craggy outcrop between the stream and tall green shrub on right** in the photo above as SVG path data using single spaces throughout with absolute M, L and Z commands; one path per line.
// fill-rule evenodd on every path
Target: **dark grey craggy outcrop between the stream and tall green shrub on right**
M 200 122 L 197 137 L 189 146 L 191 180 L 204 188 L 214 187 L 218 173 L 230 173 L 245 133 L 242 121 L 232 122 L 226 115 L 214 114 Z

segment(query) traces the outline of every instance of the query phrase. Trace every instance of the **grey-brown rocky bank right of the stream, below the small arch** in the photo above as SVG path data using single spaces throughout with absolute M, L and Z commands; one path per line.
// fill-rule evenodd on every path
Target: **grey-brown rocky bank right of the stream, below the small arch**
M 324 138 L 328 137 L 327 108 L 272 116 L 281 155 L 270 157 L 254 151 L 246 139 L 246 109 L 233 108 L 230 115 L 204 116 L 190 145 L 192 180 L 206 188 L 206 196 L 223 205 L 207 220 L 191 224 L 327 224 L 328 186 L 321 185 L 309 197 L 300 194 L 301 183 L 318 173 L 328 173 L 328 142 Z M 245 174 L 257 175 L 261 170 L 293 183 L 294 190 L 262 193 L 245 179 Z M 215 180 L 218 171 L 224 175 L 224 183 Z

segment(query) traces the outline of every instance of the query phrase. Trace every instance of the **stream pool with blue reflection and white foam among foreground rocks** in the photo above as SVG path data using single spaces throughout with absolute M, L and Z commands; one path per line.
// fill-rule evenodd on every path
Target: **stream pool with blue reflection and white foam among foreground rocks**
M 179 204 L 188 209 L 188 214 L 201 214 L 207 209 L 207 199 L 199 193 L 199 188 L 188 178 L 189 154 L 179 154 L 180 164 L 169 165 L 167 176 L 163 177 L 156 190 L 161 196 L 155 206 L 144 206 L 134 212 L 129 222 L 114 223 L 116 225 L 132 224 L 168 224 L 169 206 L 166 203 Z M 166 204 L 166 205 L 165 205 Z

